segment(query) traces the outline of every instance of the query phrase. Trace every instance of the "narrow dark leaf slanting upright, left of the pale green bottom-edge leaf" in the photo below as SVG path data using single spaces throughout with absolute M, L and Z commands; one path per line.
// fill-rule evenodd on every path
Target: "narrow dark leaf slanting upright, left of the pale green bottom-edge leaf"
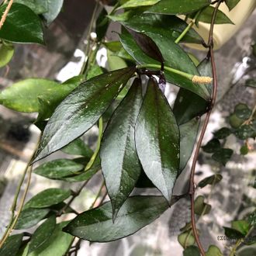
M 30 240 L 29 253 L 36 251 L 36 249 L 39 249 L 47 242 L 50 236 L 54 233 L 55 226 L 56 217 L 50 216 L 49 219 L 45 220 L 39 227 L 37 227 Z

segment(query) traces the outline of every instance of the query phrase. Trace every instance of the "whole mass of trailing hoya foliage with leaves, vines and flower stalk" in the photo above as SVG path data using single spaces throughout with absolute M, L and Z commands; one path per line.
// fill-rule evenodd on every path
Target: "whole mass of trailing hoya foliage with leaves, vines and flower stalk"
M 136 233 L 156 220 L 179 199 L 190 198 L 191 222 L 178 241 L 184 255 L 223 255 L 218 247 L 202 247 L 196 220 L 209 213 L 202 195 L 195 199 L 195 164 L 202 139 L 216 102 L 217 77 L 213 52 L 215 24 L 233 23 L 220 5 L 232 10 L 239 0 L 117 0 L 96 1 L 88 26 L 86 61 L 81 73 L 62 84 L 42 78 L 18 81 L 0 93 L 0 103 L 18 112 L 37 112 L 34 120 L 41 130 L 40 141 L 22 176 L 13 199 L 11 220 L 0 243 L 0 255 L 77 254 L 81 240 L 109 242 Z M 0 65 L 12 59 L 14 43 L 44 44 L 43 31 L 61 12 L 63 0 L 5 0 L 0 5 Z M 119 23 L 118 40 L 106 40 L 111 22 Z M 192 27 L 209 23 L 209 39 L 203 40 Z M 95 32 L 97 37 L 92 37 Z M 202 45 L 206 57 L 199 63 L 185 51 L 184 43 Z M 101 67 L 96 54 L 102 47 L 109 52 L 109 65 Z M 123 67 L 113 69 L 111 56 L 122 59 Z M 116 66 L 116 65 L 115 65 Z M 254 86 L 254 81 L 248 82 Z M 166 88 L 178 87 L 171 108 Z M 247 139 L 255 137 L 255 109 L 237 106 L 230 116 L 231 127 L 214 133 L 202 147 L 213 159 L 225 165 L 232 150 L 222 140 L 234 133 L 244 140 L 241 153 L 249 149 Z M 199 123 L 202 126 L 199 131 Z M 82 136 L 98 126 L 96 149 Z M 198 137 L 198 141 L 196 138 Z M 196 142 L 197 141 L 197 142 Z M 195 147 L 195 153 L 192 151 Z M 61 150 L 73 157 L 33 164 Z M 245 152 L 246 151 L 246 152 Z M 192 157 L 189 189 L 173 193 L 175 181 Z M 102 171 L 110 201 L 78 213 L 74 199 L 88 181 Z M 54 180 L 82 182 L 78 191 L 45 189 L 26 201 L 31 175 Z M 199 187 L 215 185 L 221 175 L 213 175 Z M 27 182 L 24 182 L 26 181 Z M 184 181 L 187 183 L 188 181 Z M 21 193 L 21 185 L 26 186 Z M 133 195 L 137 187 L 159 190 L 160 195 Z M 20 200 L 18 201 L 18 198 Z M 25 203 L 26 202 L 26 203 Z M 95 201 L 96 202 L 96 201 Z M 61 216 L 73 213 L 69 221 Z M 43 221 L 42 221 L 43 220 Z M 37 225 L 40 223 L 40 225 Z M 255 225 L 236 220 L 226 228 L 227 237 L 240 241 L 230 250 L 236 254 L 244 237 Z M 33 234 L 14 230 L 35 227 Z

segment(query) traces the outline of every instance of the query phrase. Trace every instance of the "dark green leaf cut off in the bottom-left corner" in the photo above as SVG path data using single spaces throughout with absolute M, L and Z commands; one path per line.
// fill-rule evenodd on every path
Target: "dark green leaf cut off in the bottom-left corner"
M 14 256 L 18 253 L 19 247 L 22 244 L 23 234 L 10 236 L 5 241 L 5 244 L 0 248 L 0 256 Z

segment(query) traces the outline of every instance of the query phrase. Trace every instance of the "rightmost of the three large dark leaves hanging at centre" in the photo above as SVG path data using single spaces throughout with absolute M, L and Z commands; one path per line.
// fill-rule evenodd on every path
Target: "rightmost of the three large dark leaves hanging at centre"
M 150 78 L 137 119 L 135 142 L 140 163 L 150 181 L 171 202 L 179 169 L 179 130 L 157 81 Z

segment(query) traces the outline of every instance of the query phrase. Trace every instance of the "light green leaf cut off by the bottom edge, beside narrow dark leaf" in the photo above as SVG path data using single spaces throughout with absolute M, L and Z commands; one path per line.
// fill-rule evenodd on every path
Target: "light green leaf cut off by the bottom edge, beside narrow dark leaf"
M 42 244 L 36 251 L 29 253 L 27 256 L 63 256 L 71 247 L 74 237 L 70 234 L 64 233 L 62 228 L 67 225 L 67 222 L 62 222 L 56 225 L 53 234 L 49 239 Z

